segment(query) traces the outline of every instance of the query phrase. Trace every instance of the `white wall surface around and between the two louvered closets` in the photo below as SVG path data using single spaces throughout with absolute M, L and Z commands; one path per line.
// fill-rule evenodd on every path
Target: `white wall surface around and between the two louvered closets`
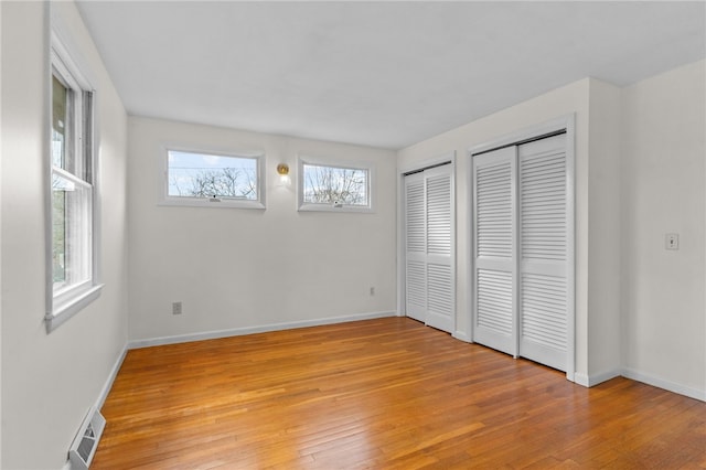
M 512 108 L 475 120 L 398 152 L 398 167 L 456 151 L 457 154 L 457 337 L 471 338 L 470 270 L 470 157 L 469 148 L 576 114 L 576 373 L 588 380 L 588 206 L 589 206 L 589 87 L 582 79 Z

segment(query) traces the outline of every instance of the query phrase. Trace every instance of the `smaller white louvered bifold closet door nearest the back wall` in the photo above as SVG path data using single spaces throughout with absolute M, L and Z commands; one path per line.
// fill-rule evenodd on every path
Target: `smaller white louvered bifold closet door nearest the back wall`
M 454 327 L 453 167 L 405 177 L 407 316 L 452 332 Z

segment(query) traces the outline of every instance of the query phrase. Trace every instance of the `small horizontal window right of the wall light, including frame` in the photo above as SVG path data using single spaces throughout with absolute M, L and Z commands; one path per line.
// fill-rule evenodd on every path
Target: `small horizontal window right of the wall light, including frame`
M 373 168 L 299 161 L 299 210 L 372 212 Z

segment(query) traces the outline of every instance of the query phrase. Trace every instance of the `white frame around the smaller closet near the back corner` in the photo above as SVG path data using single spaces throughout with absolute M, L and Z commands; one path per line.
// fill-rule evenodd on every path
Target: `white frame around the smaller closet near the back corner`
M 456 299 L 456 266 L 457 266 L 457 256 L 458 256 L 458 246 L 456 243 L 456 151 L 450 151 L 446 153 L 440 153 L 430 159 L 426 159 L 419 162 L 415 162 L 410 165 L 400 167 L 397 169 L 397 317 L 406 317 L 407 312 L 407 238 L 406 238 L 406 220 L 405 220 L 405 207 L 406 207 L 406 193 L 405 193 L 405 177 L 410 173 L 421 172 L 425 169 L 430 169 L 434 167 L 440 167 L 442 164 L 451 165 L 451 197 L 452 197 L 452 207 L 451 207 L 451 243 L 453 254 L 451 256 L 451 270 L 453 277 L 453 292 Z M 453 314 L 453 331 L 451 331 L 451 335 L 453 338 L 458 338 L 463 341 L 469 341 L 469 339 L 463 335 L 459 338 L 456 332 L 456 306 L 457 302 L 454 300 L 454 314 Z

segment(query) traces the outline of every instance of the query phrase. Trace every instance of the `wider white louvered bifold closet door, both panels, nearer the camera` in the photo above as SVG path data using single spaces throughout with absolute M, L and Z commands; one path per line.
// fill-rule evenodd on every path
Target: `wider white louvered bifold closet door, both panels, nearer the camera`
M 474 341 L 567 371 L 566 135 L 473 157 Z

